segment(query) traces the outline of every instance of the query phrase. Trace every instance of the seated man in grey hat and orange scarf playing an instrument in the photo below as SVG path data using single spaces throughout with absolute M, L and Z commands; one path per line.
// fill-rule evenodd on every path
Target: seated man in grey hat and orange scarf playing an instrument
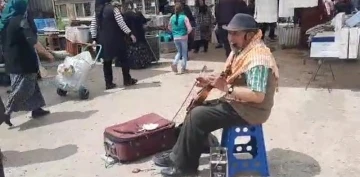
M 172 152 L 155 162 L 167 167 L 161 171 L 163 176 L 196 174 L 202 142 L 212 131 L 262 124 L 270 116 L 279 72 L 270 49 L 261 40 L 261 30 L 252 16 L 241 13 L 224 28 L 233 47 L 225 63 L 230 74 L 197 78 L 199 87 L 211 84 L 224 96 L 188 112 Z

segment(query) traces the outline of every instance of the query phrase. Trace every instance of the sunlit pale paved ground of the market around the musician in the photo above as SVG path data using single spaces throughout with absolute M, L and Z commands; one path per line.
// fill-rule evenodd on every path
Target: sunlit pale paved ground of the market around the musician
M 271 118 L 264 125 L 271 176 L 273 177 L 343 177 L 360 173 L 360 66 L 336 62 L 336 81 L 331 93 L 324 80 L 331 82 L 327 65 L 322 74 L 305 91 L 307 80 L 316 68 L 309 61 L 302 64 L 304 53 L 296 50 L 276 51 L 281 69 L 280 92 Z M 171 56 L 171 55 L 169 55 Z M 165 56 L 165 57 L 169 57 Z M 159 176 L 159 170 L 132 174 L 134 168 L 154 168 L 145 159 L 130 165 L 105 168 L 100 156 L 104 128 L 140 115 L 155 112 L 172 118 L 189 92 L 197 72 L 206 64 L 220 71 L 222 50 L 193 56 L 191 73 L 174 75 L 170 59 L 162 59 L 150 69 L 133 71 L 138 86 L 105 92 L 101 66 L 90 74 L 91 98 L 79 101 L 70 95 L 56 95 L 52 79 L 41 83 L 49 109 L 53 112 L 41 120 L 31 120 L 28 113 L 14 115 L 16 128 L 0 127 L 1 148 L 7 161 L 7 177 L 109 177 Z M 55 68 L 51 69 L 54 73 Z M 120 70 L 115 71 L 121 84 Z M 5 88 L 1 97 L 6 99 Z M 216 96 L 216 93 L 213 95 Z M 182 119 L 182 117 L 179 117 Z M 217 132 L 219 134 L 219 132 Z M 208 160 L 202 159 L 201 176 L 209 176 Z

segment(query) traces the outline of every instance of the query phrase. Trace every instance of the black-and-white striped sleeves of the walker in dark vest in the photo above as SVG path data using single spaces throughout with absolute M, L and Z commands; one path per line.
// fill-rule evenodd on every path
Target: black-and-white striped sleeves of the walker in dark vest
M 125 34 L 130 34 L 131 30 L 130 28 L 126 25 L 123 16 L 121 15 L 121 12 L 118 8 L 114 7 L 114 16 L 115 16 L 115 20 L 117 22 L 117 24 L 119 25 L 119 27 L 121 28 L 121 30 L 125 33 Z M 91 24 L 90 24 L 90 33 L 91 33 L 91 38 L 92 39 L 96 39 L 97 36 L 97 22 L 96 22 L 96 16 L 95 14 L 93 15 L 92 19 L 91 19 Z

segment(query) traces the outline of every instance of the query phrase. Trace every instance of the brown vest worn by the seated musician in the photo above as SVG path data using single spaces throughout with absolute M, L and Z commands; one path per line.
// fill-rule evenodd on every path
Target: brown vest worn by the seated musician
M 245 74 L 242 74 L 240 79 L 236 79 L 233 85 L 247 87 Z M 249 124 L 256 125 L 266 122 L 269 118 L 271 108 L 274 105 L 275 90 L 275 76 L 272 74 L 272 71 L 269 71 L 265 98 L 262 103 L 239 102 L 227 99 L 226 96 L 224 98 L 244 120 L 246 120 Z

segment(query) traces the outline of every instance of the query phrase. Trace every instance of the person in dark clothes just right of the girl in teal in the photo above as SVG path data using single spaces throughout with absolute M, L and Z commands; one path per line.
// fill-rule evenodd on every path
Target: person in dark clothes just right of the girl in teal
M 195 7 L 194 53 L 198 53 L 201 46 L 204 47 L 204 52 L 207 52 L 211 39 L 213 16 L 205 4 L 205 0 L 196 0 Z

